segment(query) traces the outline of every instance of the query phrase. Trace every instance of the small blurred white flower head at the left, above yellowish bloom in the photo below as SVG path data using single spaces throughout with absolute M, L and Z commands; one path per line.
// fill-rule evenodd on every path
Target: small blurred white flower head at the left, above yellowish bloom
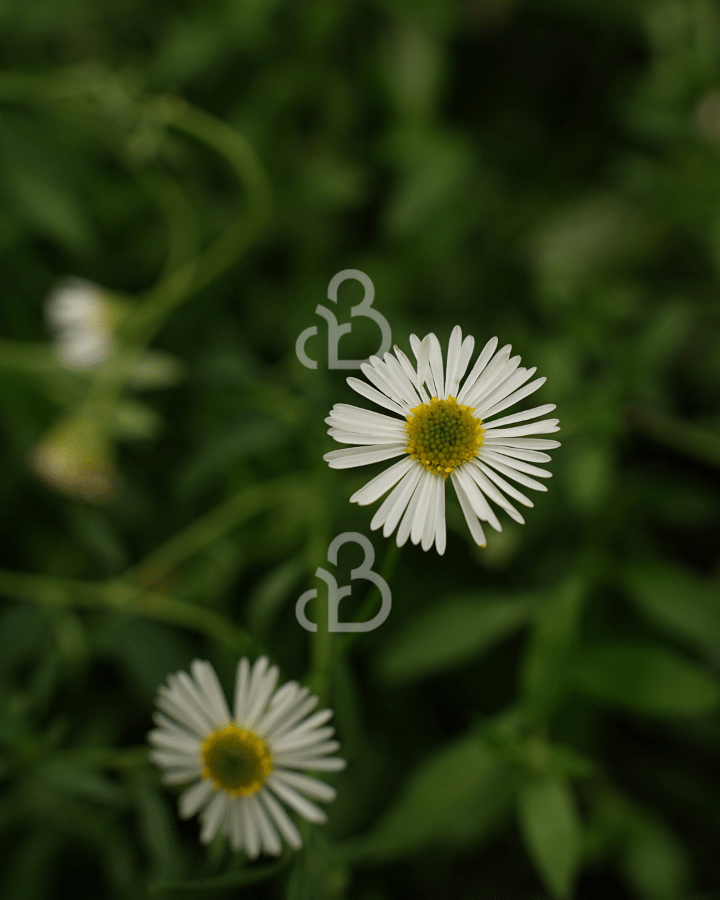
M 80 278 L 63 281 L 47 299 L 46 316 L 58 358 L 68 368 L 96 366 L 112 353 L 116 310 L 98 285 Z

